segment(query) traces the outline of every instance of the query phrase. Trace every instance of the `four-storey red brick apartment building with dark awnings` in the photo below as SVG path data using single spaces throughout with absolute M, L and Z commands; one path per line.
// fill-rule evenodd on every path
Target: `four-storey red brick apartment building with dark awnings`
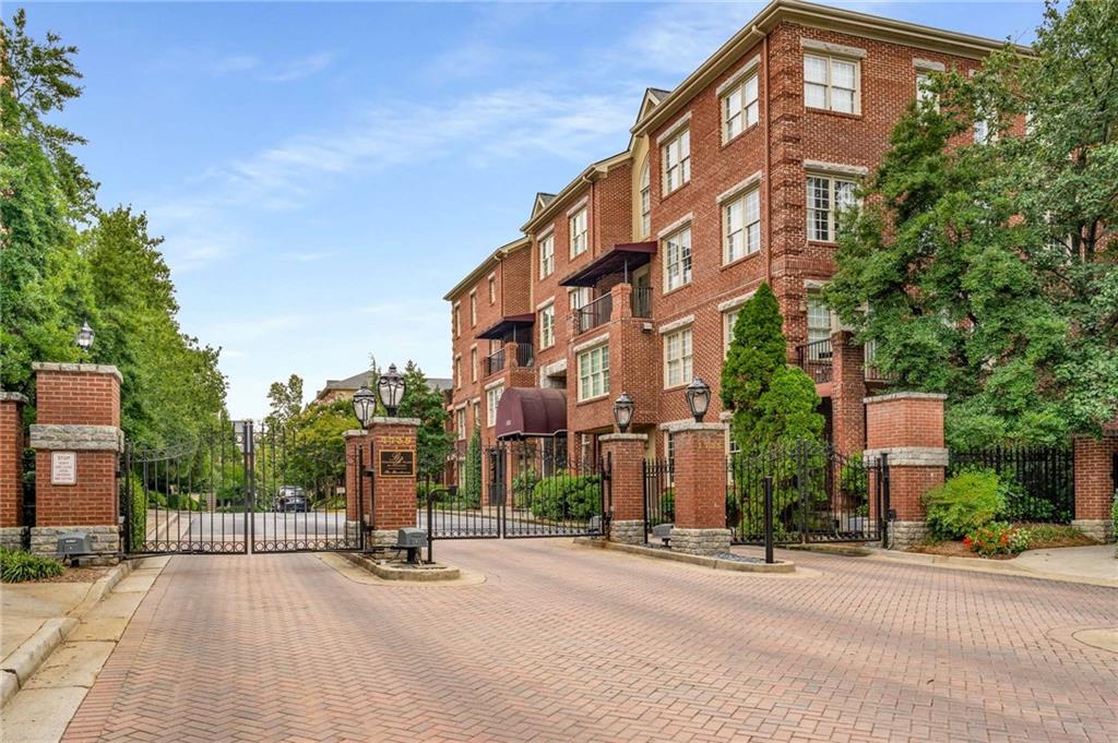
M 775 0 L 673 91 L 648 88 L 629 146 L 537 194 L 523 237 L 446 295 L 458 454 L 476 427 L 484 442 L 517 432 L 496 416 L 517 390 L 510 408 L 560 400 L 565 420 L 549 427 L 587 456 L 625 391 L 650 456 L 670 456 L 683 388 L 698 375 L 717 392 L 729 328 L 761 282 L 828 435 L 863 448 L 862 399 L 880 381 L 818 295 L 835 270 L 835 209 L 929 72 L 967 73 L 1001 45 Z M 708 420 L 720 415 L 716 394 Z

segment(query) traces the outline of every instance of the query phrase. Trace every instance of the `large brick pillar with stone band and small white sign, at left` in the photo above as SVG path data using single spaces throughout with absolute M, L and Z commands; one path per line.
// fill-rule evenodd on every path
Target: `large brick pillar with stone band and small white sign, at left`
M 37 362 L 32 368 L 38 423 L 31 426 L 31 551 L 55 554 L 60 534 L 86 532 L 102 555 L 94 562 L 114 563 L 121 552 L 121 372 L 97 364 Z

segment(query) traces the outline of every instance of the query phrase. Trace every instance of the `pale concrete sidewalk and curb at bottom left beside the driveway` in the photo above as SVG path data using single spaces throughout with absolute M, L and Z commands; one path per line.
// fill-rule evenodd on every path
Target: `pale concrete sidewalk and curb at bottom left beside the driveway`
M 169 560 L 124 562 L 93 583 L 3 587 L 4 743 L 61 739 Z

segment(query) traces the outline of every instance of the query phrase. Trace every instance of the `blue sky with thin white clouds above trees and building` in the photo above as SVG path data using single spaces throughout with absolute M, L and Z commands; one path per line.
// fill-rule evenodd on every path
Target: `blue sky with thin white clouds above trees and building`
M 89 140 L 101 204 L 148 212 L 183 330 L 256 417 L 269 382 L 311 396 L 370 353 L 448 377 L 446 290 L 762 4 L 27 7 L 80 49 L 58 121 Z M 1021 42 L 1042 11 L 835 4 Z

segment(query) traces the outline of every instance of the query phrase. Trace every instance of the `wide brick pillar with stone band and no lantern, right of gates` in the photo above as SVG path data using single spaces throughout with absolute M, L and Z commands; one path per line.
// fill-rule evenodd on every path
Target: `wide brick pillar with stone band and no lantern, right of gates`
M 946 394 L 897 392 L 865 398 L 865 458 L 889 455 L 889 544 L 909 546 L 928 535 L 921 497 L 944 483 Z M 889 514 L 885 514 L 888 518 Z

